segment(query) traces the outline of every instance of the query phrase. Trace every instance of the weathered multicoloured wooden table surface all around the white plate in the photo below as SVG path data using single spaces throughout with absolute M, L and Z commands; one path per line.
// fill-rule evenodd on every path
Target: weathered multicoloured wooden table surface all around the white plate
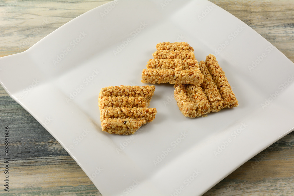
M 0 57 L 25 51 L 71 19 L 107 2 L 0 0 Z M 294 62 L 293 0 L 212 2 L 248 24 Z M 1 195 L 101 195 L 61 145 L 0 86 L 1 149 L 4 126 L 14 130 L 9 132 L 13 161 L 6 192 L 1 153 Z M 294 195 L 294 132 L 251 158 L 204 195 Z

